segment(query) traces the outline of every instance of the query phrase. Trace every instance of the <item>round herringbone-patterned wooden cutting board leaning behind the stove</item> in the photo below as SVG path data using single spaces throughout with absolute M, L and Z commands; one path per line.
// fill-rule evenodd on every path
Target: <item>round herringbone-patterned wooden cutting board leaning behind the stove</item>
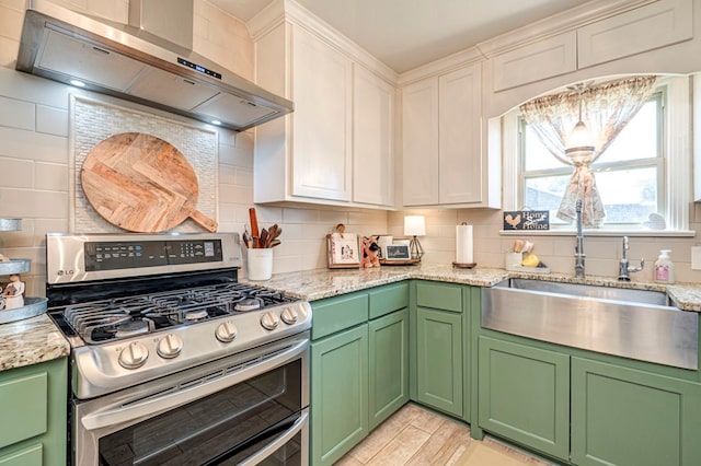
M 199 186 L 194 168 L 154 136 L 123 132 L 101 141 L 85 158 L 80 179 L 95 211 L 124 230 L 163 232 L 191 218 L 217 231 L 217 222 L 195 209 Z

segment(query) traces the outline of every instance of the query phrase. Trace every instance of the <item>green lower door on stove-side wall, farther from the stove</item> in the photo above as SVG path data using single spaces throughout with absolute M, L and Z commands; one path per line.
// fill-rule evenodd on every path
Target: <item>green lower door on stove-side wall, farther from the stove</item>
M 409 401 L 409 310 L 370 321 L 370 430 Z

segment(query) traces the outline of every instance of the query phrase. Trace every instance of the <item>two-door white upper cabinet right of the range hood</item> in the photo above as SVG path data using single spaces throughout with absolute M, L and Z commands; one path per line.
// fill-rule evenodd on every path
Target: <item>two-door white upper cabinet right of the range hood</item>
M 394 208 L 395 73 L 295 2 L 249 27 L 256 82 L 295 103 L 255 130 L 253 201 Z

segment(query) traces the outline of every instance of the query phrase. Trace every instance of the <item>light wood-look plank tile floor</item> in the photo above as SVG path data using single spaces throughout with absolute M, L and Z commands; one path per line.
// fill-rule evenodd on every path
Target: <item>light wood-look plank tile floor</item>
M 470 442 L 478 441 L 470 438 L 469 427 L 410 403 L 370 432 L 336 466 L 498 466 L 461 459 Z M 485 438 L 483 442 L 513 457 L 517 464 L 550 465 L 493 439 Z

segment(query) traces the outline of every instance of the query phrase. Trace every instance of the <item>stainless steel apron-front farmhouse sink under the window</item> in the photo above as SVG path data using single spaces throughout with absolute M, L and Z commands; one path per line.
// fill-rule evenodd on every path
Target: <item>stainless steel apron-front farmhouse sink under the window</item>
M 648 290 L 507 279 L 482 289 L 482 327 L 543 341 L 699 368 L 698 317 Z

